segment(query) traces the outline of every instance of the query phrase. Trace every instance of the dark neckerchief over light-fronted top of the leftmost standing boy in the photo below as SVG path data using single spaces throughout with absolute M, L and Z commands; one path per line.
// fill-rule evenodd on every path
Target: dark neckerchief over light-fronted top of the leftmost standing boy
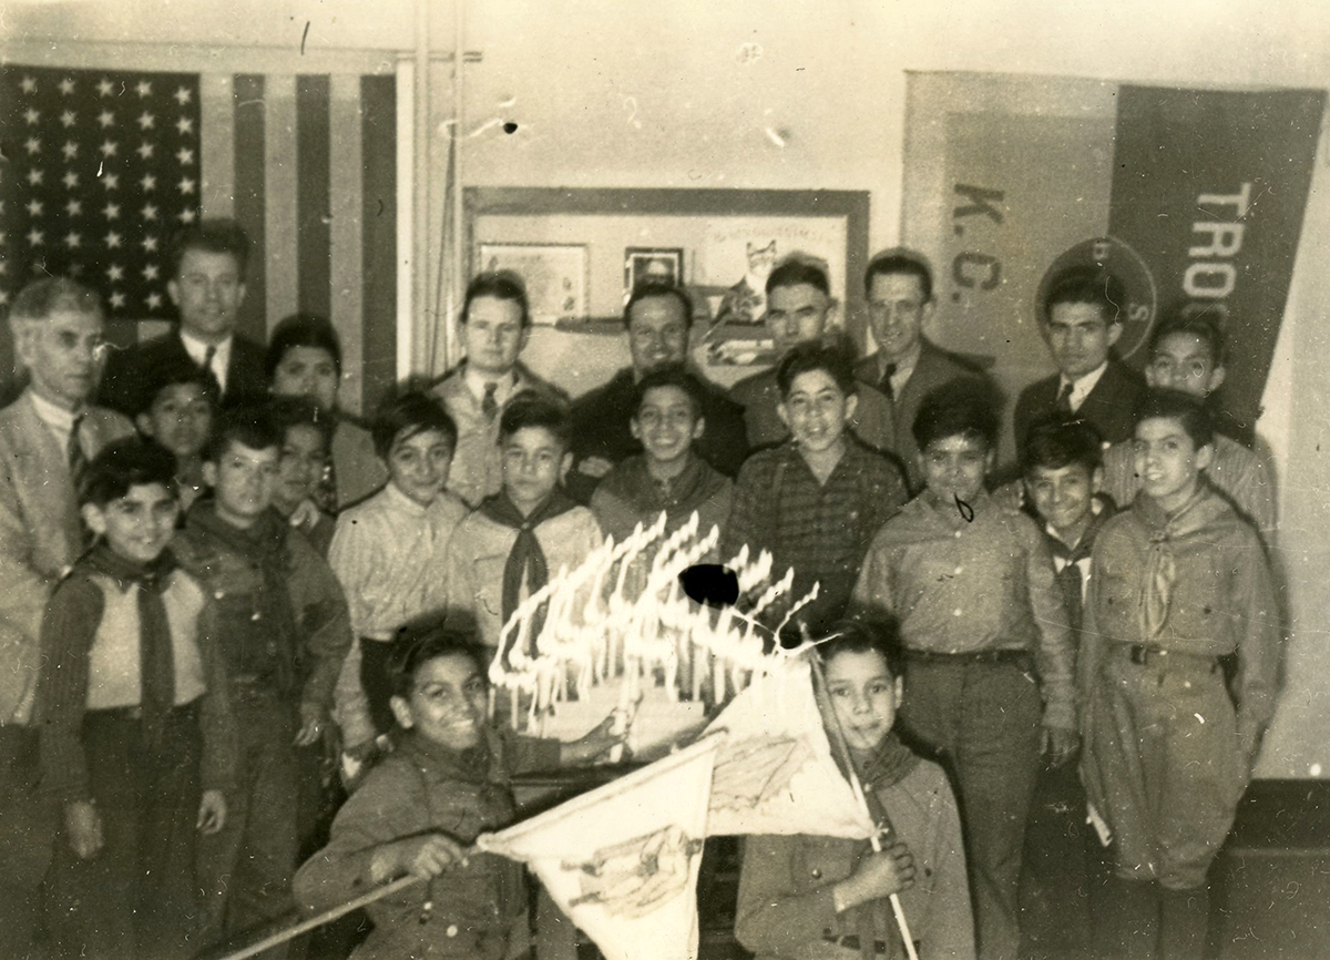
M 168 549 L 149 564 L 136 564 L 101 541 L 85 560 L 122 589 L 138 586 L 138 709 L 149 743 L 156 743 L 176 706 L 176 652 L 162 590 L 170 585 L 176 557 Z

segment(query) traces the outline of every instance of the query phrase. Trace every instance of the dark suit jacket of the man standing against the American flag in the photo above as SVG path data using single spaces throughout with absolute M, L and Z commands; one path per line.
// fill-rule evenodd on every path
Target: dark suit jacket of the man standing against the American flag
M 258 343 L 237 334 L 231 338 L 231 359 L 226 368 L 223 407 L 262 403 L 267 398 L 267 351 Z M 101 375 L 97 403 L 134 416 L 144 410 L 149 398 L 144 396 L 150 383 L 149 371 L 164 363 L 194 363 L 180 338 L 180 328 L 125 350 L 114 350 Z

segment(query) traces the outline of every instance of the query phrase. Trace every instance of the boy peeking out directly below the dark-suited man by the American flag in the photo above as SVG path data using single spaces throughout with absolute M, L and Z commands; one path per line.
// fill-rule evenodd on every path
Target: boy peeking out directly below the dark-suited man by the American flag
M 176 455 L 182 515 L 203 492 L 203 447 L 218 399 L 213 376 L 189 360 L 166 360 L 148 372 L 134 425 Z

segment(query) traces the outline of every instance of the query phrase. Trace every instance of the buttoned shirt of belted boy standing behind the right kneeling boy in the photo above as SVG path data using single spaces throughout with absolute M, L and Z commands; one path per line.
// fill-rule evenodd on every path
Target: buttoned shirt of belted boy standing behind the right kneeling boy
M 1044 726 L 1076 729 L 1076 646 L 1044 535 L 987 493 L 970 504 L 927 493 L 872 539 L 851 609 L 896 617 L 907 649 L 928 653 L 1028 650 L 1044 695 Z

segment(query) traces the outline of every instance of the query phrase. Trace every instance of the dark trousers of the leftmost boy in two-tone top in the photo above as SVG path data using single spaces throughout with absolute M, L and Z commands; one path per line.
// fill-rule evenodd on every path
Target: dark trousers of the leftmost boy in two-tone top
M 80 860 L 61 827 L 48 896 L 57 956 L 193 956 L 198 707 L 177 707 L 154 737 L 137 710 L 93 710 L 84 718 L 82 743 L 102 848 Z

